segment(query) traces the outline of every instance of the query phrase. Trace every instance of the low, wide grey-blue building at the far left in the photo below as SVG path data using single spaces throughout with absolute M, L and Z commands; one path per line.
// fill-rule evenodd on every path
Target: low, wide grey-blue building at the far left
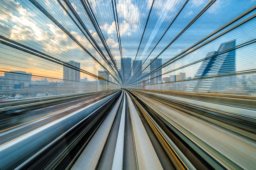
M 27 73 L 24 71 L 10 71 L 4 73 L 4 79 L 6 84 L 9 86 L 14 86 L 14 84 L 20 86 L 24 83 L 24 86 L 31 84 L 32 73 Z

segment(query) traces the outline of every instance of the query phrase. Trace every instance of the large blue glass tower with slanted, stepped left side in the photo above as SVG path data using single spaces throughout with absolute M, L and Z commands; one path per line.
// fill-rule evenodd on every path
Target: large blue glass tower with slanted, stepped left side
M 230 52 L 223 52 L 235 46 L 235 40 L 221 43 L 218 51 L 209 52 L 207 57 L 215 56 L 204 60 L 197 70 L 194 78 L 200 78 L 204 76 L 214 76 L 218 74 L 227 74 L 235 72 L 235 50 Z M 225 87 L 235 86 L 236 76 L 217 77 L 217 78 L 206 78 L 191 81 L 186 91 L 216 91 L 224 90 Z

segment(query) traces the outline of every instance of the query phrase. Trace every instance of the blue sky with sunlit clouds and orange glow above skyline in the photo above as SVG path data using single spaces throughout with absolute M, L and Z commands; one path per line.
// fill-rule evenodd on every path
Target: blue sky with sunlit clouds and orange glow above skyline
M 98 70 L 106 69 L 121 83 L 117 74 L 117 69 L 121 68 L 121 56 L 131 57 L 132 60 L 136 56 L 136 60 L 144 62 L 142 69 L 156 56 L 162 58 L 164 64 L 256 5 L 255 0 L 216 0 L 187 27 L 210 0 L 185 2 L 186 0 L 113 0 L 112 4 L 111 0 L 69 0 L 66 3 L 62 0 L 1 0 L 0 35 L 57 60 L 80 62 L 81 69 L 95 75 Z M 251 12 L 202 43 L 255 13 Z M 240 45 L 255 39 L 255 22 L 255 18 L 251 19 L 173 62 L 163 69 L 163 73 L 204 58 L 208 52 L 218 50 L 220 43 L 225 41 L 236 39 L 236 45 Z M 37 76 L 63 77 L 62 65 L 3 44 L 0 44 L 0 48 L 2 71 L 23 70 Z M 255 49 L 255 44 L 252 44 L 236 50 L 237 70 L 255 67 Z M 186 72 L 188 77 L 193 77 L 199 65 L 200 63 L 194 64 L 171 74 Z M 144 72 L 149 72 L 149 67 Z M 170 74 L 165 76 L 168 75 Z M 81 78 L 83 77 L 94 80 L 86 74 L 81 74 Z M 128 81 L 133 82 L 133 78 Z

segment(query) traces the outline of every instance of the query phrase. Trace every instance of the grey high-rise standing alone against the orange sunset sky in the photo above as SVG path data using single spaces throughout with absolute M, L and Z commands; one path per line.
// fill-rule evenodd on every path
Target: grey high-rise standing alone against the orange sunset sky
M 74 67 L 80 69 L 80 63 L 73 60 L 70 60 L 67 62 L 67 64 L 73 65 Z M 71 84 L 72 81 L 80 81 L 80 71 L 63 66 L 63 79 L 64 83 L 68 84 Z

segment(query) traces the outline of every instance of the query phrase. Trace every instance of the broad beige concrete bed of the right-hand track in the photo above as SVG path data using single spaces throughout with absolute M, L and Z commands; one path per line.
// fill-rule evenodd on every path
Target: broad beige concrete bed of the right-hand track
M 142 95 L 140 98 L 228 169 L 249 170 L 255 167 L 256 144 L 252 141 L 159 101 Z M 247 159 L 241 159 L 242 157 Z

